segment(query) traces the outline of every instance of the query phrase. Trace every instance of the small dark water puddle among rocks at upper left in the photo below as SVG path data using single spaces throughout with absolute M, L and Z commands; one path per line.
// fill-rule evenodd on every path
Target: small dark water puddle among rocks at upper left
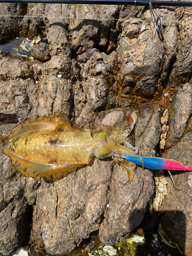
M 6 44 L 0 45 L 0 50 L 27 57 L 31 51 L 31 40 L 25 37 L 16 37 Z

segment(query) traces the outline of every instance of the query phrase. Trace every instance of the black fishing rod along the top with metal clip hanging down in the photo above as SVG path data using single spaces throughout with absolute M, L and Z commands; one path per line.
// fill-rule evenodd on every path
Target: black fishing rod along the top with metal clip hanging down
M 162 18 L 153 6 L 192 7 L 192 2 L 156 0 L 0 0 L 0 3 L 41 3 L 41 4 L 90 4 L 90 5 L 133 5 L 150 7 L 152 22 L 158 32 L 162 29 Z M 156 16 L 155 16 L 156 15 Z

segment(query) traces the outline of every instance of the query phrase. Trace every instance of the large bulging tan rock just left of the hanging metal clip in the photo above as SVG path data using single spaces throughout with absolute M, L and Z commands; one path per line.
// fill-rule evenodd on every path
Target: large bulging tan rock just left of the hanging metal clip
M 156 84 L 155 76 L 160 74 L 159 64 L 155 57 L 156 54 L 152 55 L 151 59 L 144 54 L 144 52 L 157 52 L 162 47 L 161 42 L 158 42 L 158 48 L 154 48 L 154 40 L 159 41 L 159 39 L 157 34 L 155 34 L 155 37 L 153 34 L 155 34 L 154 28 L 146 26 L 145 22 L 141 22 L 138 19 L 132 22 L 127 20 L 122 26 L 122 33 L 119 36 L 119 45 L 117 48 L 118 61 L 121 67 L 121 79 L 124 80 L 127 75 L 134 79 L 135 74 L 140 73 L 141 78 L 137 79 L 134 92 L 136 95 L 144 97 L 153 97 Z M 146 43 L 146 41 L 148 42 Z M 152 47 L 153 50 L 151 49 Z M 143 54 L 140 54 L 141 52 Z M 159 57 L 161 59 L 162 55 Z M 142 75 L 143 62 L 145 63 L 144 76 Z M 131 81 L 131 83 L 133 82 Z M 129 86 L 129 83 L 127 85 Z

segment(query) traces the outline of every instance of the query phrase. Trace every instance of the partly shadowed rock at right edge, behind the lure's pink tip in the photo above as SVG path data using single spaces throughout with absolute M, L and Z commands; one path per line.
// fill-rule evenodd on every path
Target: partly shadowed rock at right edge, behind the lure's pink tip
M 191 132 L 186 133 L 175 146 L 165 152 L 163 157 L 175 159 L 182 164 L 191 166 L 191 139 Z M 192 243 L 190 200 L 192 195 L 190 183 L 191 174 L 189 172 L 183 173 L 181 171 L 172 171 L 171 173 L 176 187 L 174 188 L 172 180 L 167 178 L 168 196 L 165 197 L 160 207 L 160 211 L 163 212 L 161 216 L 161 224 L 170 239 L 178 244 L 184 255 L 190 255 Z

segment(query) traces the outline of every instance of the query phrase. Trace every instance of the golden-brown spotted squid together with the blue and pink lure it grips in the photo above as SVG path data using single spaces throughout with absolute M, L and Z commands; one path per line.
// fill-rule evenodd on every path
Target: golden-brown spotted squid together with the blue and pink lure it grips
M 121 164 L 129 176 L 125 185 L 133 180 L 136 164 L 143 169 L 192 170 L 172 160 L 137 155 L 139 148 L 127 142 L 137 122 L 137 112 L 116 123 L 111 131 L 97 131 L 92 136 L 90 131 L 74 129 L 68 119 L 57 115 L 27 120 L 10 132 L 3 152 L 20 173 L 32 178 L 57 173 L 67 176 L 74 168 L 89 164 L 94 156 L 113 157 Z

